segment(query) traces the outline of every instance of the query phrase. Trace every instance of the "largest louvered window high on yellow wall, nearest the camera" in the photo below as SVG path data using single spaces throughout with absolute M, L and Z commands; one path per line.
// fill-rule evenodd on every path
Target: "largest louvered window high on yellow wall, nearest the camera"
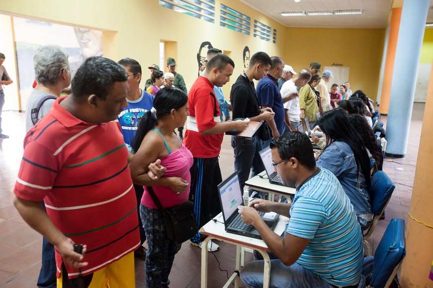
M 215 0 L 159 0 L 159 5 L 215 23 Z

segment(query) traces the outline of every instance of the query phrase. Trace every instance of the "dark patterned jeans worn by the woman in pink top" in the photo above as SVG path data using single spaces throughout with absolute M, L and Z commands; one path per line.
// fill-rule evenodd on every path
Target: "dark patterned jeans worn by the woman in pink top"
M 140 217 L 147 238 L 147 254 L 144 262 L 146 287 L 168 287 L 173 261 L 182 243 L 167 238 L 164 215 L 158 209 L 140 204 Z

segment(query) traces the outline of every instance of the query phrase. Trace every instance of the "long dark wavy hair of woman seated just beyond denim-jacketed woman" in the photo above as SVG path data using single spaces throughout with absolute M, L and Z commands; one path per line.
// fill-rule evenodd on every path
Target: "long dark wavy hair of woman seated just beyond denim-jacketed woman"
M 373 130 L 367 123 L 366 119 L 358 114 L 349 114 L 348 117 L 350 124 L 352 124 L 355 131 L 358 132 L 359 136 L 361 136 L 370 159 L 373 159 L 376 162 L 378 170 L 382 170 L 383 156 L 380 141 L 377 143 Z

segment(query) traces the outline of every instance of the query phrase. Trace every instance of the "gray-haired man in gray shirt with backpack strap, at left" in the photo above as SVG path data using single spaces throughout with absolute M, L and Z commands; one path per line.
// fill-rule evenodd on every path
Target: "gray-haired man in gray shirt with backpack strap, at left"
M 69 53 L 57 45 L 42 46 L 36 50 L 33 65 L 38 85 L 27 100 L 26 132 L 48 113 L 53 107 L 55 97 L 59 97 L 62 90 L 70 85 L 72 70 L 69 68 L 68 57 Z M 46 100 L 43 100 L 43 103 L 40 102 L 44 98 Z M 35 117 L 35 109 L 38 108 L 38 104 L 40 107 Z

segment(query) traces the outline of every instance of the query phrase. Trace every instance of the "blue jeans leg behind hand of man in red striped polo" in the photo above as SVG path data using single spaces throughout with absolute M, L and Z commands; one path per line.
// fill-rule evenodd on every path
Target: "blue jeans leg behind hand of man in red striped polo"
M 45 203 L 42 201 L 45 208 Z M 39 278 L 37 286 L 39 288 L 56 288 L 57 287 L 57 276 L 56 276 L 56 256 L 54 253 L 54 245 L 51 244 L 47 239 L 42 238 L 42 267 L 39 272 Z

